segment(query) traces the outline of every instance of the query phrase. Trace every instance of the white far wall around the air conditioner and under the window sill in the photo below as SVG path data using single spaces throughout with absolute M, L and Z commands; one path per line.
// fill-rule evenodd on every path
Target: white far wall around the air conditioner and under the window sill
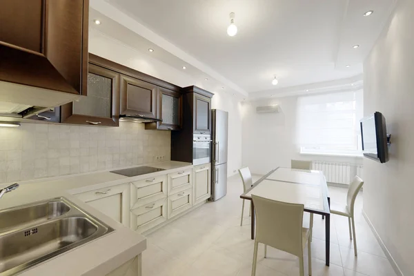
M 279 104 L 279 113 L 257 114 L 257 106 Z M 296 138 L 297 97 L 242 103 L 243 166 L 265 174 L 276 166 L 290 167 L 290 159 L 362 163 L 361 158 L 300 155 Z

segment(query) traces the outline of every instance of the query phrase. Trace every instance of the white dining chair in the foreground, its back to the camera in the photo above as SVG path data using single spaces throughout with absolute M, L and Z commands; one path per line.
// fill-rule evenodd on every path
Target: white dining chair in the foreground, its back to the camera
M 252 195 L 256 212 L 256 238 L 252 276 L 256 275 L 257 248 L 264 244 L 264 257 L 271 246 L 299 257 L 299 273 L 304 276 L 304 247 L 308 243 L 308 273 L 312 275 L 311 231 L 303 228 L 304 205 L 274 201 Z M 311 219 L 313 214 L 311 213 Z

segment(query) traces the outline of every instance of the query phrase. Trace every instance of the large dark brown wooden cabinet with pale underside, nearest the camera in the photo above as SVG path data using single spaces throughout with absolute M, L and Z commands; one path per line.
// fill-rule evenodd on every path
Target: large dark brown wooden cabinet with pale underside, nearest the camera
M 88 11 L 89 0 L 1 1 L 0 80 L 37 88 L 15 86 L 9 101 L 58 106 L 86 95 Z

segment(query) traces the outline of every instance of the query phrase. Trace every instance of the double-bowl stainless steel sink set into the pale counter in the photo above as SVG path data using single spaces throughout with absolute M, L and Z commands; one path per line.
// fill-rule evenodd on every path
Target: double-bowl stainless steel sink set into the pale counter
M 35 215 L 23 215 L 23 210 Z M 13 228 L 10 228 L 12 224 L 1 221 L 4 229 L 8 229 L 0 230 L 1 276 L 19 273 L 113 231 L 63 197 L 10 208 L 1 213 L 0 219 L 10 218 L 3 213 L 21 216 L 21 219 L 14 219 Z

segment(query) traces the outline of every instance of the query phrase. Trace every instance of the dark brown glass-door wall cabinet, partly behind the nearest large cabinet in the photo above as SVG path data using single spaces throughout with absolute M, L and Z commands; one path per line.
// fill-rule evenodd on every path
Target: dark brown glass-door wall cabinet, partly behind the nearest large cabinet
M 119 73 L 90 63 L 88 97 L 61 106 L 61 123 L 119 126 Z

